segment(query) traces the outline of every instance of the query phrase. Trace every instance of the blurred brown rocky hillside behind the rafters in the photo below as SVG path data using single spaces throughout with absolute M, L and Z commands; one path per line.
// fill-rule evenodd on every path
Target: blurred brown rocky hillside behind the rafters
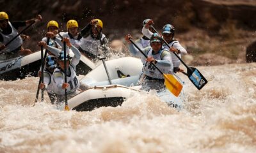
M 66 31 L 67 20 L 75 19 L 84 27 L 92 18 L 100 18 L 104 22 L 103 32 L 111 41 L 123 38 L 126 33 L 140 34 L 145 18 L 152 18 L 159 31 L 164 24 L 171 23 L 176 28 L 176 38 L 193 55 L 192 64 L 209 64 L 208 59 L 214 60 L 211 57 L 214 54 L 225 57 L 224 61 L 245 62 L 246 47 L 255 38 L 256 1 L 253 0 L 2 0 L 0 5 L 11 21 L 27 20 L 36 13 L 43 16 L 43 22 L 26 32 L 32 41 L 26 45 L 33 50 L 37 50 L 35 42 L 44 36 L 49 20 L 57 20 Z M 202 56 L 206 62 L 198 62 Z

